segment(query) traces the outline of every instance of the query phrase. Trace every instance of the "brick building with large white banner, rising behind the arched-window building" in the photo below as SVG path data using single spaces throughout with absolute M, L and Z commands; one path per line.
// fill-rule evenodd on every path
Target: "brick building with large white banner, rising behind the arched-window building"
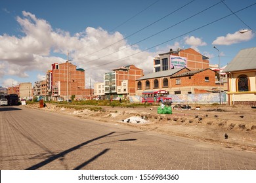
M 192 48 L 178 49 L 177 51 L 171 49 L 169 52 L 159 54 L 158 57 L 154 58 L 154 72 L 167 71 L 179 67 L 186 67 L 190 71 L 207 69 L 209 68 L 208 59 Z

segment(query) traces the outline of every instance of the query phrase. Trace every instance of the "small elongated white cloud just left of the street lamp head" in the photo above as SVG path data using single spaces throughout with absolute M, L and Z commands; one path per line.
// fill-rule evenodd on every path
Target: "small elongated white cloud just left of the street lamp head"
M 249 41 L 250 39 L 253 38 L 253 33 L 251 31 L 241 34 L 239 31 L 235 33 L 228 33 L 225 37 L 217 37 L 215 41 L 213 41 L 212 44 L 216 45 L 231 45 L 231 44 L 236 44 L 239 42 L 244 42 L 244 41 Z

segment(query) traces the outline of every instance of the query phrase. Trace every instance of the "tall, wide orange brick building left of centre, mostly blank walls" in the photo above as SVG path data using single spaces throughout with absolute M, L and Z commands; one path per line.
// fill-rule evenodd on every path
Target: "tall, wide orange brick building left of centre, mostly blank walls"
M 76 69 L 68 61 L 53 63 L 52 70 L 47 73 L 47 88 L 53 99 L 63 97 L 65 100 L 75 95 L 75 99 L 85 97 L 85 70 Z

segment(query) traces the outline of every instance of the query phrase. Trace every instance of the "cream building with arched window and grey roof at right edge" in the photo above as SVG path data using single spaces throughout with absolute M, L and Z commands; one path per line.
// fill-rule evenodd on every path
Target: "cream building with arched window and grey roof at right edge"
M 256 47 L 240 50 L 223 72 L 228 75 L 228 103 L 256 105 Z

